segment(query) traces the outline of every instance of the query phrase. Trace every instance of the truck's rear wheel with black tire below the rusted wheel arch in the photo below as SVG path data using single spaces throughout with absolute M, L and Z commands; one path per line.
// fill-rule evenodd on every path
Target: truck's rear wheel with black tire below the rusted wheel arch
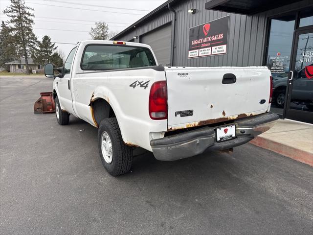
M 106 118 L 98 129 L 98 147 L 101 162 L 112 176 L 127 173 L 132 166 L 133 149 L 122 139 L 116 118 Z

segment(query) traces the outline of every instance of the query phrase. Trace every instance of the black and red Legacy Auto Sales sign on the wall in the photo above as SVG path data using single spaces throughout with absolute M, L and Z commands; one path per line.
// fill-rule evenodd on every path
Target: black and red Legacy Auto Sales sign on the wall
M 229 16 L 189 29 L 188 58 L 226 54 Z

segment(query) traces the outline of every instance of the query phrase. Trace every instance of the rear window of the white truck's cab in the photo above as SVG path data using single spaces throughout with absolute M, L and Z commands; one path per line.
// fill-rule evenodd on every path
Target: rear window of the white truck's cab
M 151 51 L 145 47 L 89 45 L 81 62 L 82 70 L 117 70 L 155 66 Z

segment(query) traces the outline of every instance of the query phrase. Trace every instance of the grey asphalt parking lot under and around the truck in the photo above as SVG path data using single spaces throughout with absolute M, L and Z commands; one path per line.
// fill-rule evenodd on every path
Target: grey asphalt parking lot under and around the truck
M 52 79 L 0 77 L 0 234 L 313 234 L 313 168 L 246 144 L 114 178 L 97 129 L 34 115 Z

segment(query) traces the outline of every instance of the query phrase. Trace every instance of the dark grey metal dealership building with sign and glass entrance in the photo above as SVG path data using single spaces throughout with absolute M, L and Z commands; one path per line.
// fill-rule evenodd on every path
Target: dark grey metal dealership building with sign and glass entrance
M 272 111 L 313 123 L 313 0 L 168 0 L 112 40 L 162 66 L 268 66 Z

